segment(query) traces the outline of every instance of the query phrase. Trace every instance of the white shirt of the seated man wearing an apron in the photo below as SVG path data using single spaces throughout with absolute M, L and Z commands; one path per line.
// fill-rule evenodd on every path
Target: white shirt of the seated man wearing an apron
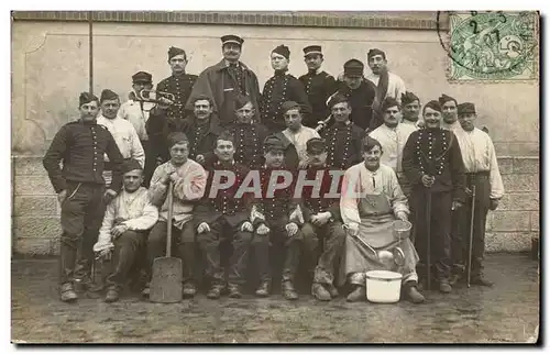
M 361 223 L 358 206 L 365 195 L 385 195 L 395 214 L 409 213 L 407 197 L 392 167 L 381 164 L 378 169 L 371 172 L 362 162 L 348 168 L 343 177 L 340 212 L 344 224 Z

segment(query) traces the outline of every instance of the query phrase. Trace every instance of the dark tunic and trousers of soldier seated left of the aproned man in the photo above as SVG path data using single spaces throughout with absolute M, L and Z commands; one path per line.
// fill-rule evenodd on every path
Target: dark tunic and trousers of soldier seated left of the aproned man
M 319 195 L 315 192 L 314 186 L 305 186 L 301 192 L 300 208 L 305 221 L 301 225 L 301 233 L 304 235 L 305 258 L 308 263 L 308 269 L 315 267 L 314 283 L 332 285 L 336 276 L 334 269 L 340 262 L 345 239 L 339 199 L 343 174 L 341 169 L 327 165 L 308 166 L 304 172 L 306 180 L 320 181 Z M 323 212 L 331 213 L 329 221 L 320 226 L 312 224 L 311 217 Z M 322 253 L 319 254 L 322 241 L 324 241 L 324 246 Z

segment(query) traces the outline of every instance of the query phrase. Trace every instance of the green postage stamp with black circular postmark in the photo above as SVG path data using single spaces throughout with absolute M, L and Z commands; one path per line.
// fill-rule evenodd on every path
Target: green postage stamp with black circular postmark
M 450 81 L 538 80 L 536 11 L 450 12 L 448 41 L 440 30 L 439 35 L 450 58 Z

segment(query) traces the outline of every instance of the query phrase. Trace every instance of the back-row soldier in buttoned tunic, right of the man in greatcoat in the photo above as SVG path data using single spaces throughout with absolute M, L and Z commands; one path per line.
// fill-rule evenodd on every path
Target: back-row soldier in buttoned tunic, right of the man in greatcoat
M 260 104 L 261 121 L 270 133 L 286 129 L 282 110 L 282 106 L 286 101 L 295 101 L 301 107 L 304 120 L 309 120 L 309 114 L 311 114 L 311 106 L 304 85 L 296 77 L 287 74 L 289 58 L 290 49 L 286 45 L 277 46 L 271 55 L 275 75 L 265 82 Z

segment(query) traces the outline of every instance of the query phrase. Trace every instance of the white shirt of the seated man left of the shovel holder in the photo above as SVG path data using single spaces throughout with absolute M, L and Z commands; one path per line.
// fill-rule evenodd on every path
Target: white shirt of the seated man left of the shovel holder
M 145 231 L 158 220 L 158 210 L 153 206 L 147 196 L 147 189 L 140 187 L 134 192 L 122 190 L 109 206 L 99 230 L 98 242 L 94 245 L 95 252 L 113 248 L 111 229 L 117 218 L 127 219 L 122 224 L 132 231 Z

